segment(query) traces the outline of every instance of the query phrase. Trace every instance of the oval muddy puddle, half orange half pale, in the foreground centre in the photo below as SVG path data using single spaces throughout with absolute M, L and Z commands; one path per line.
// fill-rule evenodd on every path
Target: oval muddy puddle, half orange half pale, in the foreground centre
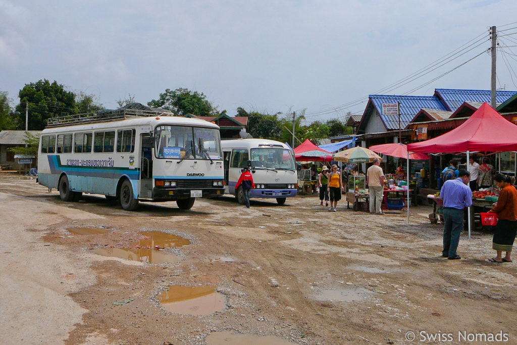
M 214 286 L 183 287 L 169 286 L 158 295 L 158 301 L 166 311 L 190 315 L 209 315 L 221 311 L 225 298 L 215 291 Z

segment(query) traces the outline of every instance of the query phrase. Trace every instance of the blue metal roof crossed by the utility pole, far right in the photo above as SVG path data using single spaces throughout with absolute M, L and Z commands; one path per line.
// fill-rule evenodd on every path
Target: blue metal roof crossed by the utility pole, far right
M 495 92 L 495 102 L 504 103 L 515 93 L 517 91 L 498 90 Z M 445 102 L 449 111 L 456 111 L 465 101 L 490 103 L 492 97 L 490 90 L 459 90 L 454 88 L 436 88 L 434 95 Z

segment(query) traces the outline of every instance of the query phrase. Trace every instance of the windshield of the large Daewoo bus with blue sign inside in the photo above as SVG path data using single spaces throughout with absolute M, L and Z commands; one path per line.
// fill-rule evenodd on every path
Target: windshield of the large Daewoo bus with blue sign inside
M 163 125 L 155 129 L 158 158 L 221 159 L 219 130 L 216 128 Z

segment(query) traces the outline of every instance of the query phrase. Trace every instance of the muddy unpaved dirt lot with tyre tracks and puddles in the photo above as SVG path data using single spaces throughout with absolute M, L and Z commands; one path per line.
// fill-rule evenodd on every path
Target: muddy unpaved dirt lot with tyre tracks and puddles
M 0 174 L 2 342 L 497 343 L 490 334 L 502 332 L 517 343 L 517 266 L 485 261 L 491 234 L 462 236 L 463 259 L 446 260 L 428 207 L 408 226 L 346 203 L 330 213 L 313 197 L 251 206 L 222 198 L 125 212 Z M 179 237 L 155 248 L 156 231 Z M 171 312 L 163 296 L 174 289 L 204 302 Z

